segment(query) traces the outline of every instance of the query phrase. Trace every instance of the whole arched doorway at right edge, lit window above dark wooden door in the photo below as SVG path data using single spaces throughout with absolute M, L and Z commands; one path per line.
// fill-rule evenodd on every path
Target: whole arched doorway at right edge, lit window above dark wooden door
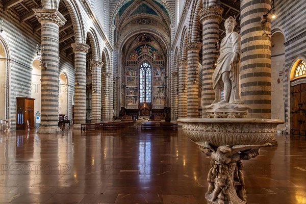
M 291 130 L 293 135 L 306 136 L 306 61 L 298 59 L 291 74 Z

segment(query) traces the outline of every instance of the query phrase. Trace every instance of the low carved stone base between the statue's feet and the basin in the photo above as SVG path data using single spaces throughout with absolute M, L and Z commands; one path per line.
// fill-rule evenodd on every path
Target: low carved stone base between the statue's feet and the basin
M 212 104 L 206 106 L 208 118 L 246 118 L 248 105 L 240 104 Z

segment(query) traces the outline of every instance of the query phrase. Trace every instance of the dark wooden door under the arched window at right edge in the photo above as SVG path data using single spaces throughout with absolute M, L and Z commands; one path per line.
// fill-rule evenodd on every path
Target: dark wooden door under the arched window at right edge
M 291 134 L 306 136 L 306 83 L 291 87 Z

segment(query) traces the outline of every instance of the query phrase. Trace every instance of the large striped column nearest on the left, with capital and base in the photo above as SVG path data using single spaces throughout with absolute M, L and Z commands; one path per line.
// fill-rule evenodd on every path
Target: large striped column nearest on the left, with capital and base
M 59 27 L 66 19 L 57 9 L 33 9 L 41 23 L 41 123 L 37 133 L 58 133 Z

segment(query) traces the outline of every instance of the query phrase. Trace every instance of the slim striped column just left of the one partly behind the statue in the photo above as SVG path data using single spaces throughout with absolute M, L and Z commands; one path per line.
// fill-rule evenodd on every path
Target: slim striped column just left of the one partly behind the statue
M 187 117 L 198 118 L 199 94 L 199 50 L 202 43 L 188 42 L 187 47 Z

